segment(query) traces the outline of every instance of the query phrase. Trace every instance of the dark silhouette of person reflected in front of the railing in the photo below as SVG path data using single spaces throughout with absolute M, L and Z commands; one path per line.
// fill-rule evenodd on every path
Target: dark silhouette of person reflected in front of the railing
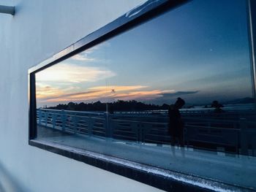
M 168 110 L 169 115 L 169 133 L 170 137 L 172 137 L 171 145 L 175 145 L 176 139 L 178 139 L 179 145 L 181 147 L 184 147 L 184 123 L 181 120 L 181 113 L 179 112 L 179 109 L 183 107 L 185 104 L 185 101 L 178 97 L 175 104 L 171 104 Z

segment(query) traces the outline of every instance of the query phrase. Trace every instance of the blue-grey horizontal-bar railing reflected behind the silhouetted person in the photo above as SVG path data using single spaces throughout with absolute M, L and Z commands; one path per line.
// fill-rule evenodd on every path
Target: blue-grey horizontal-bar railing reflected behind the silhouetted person
M 227 120 L 218 114 L 206 115 L 204 118 L 198 116 L 198 113 L 195 116 L 191 113 L 183 114 L 184 142 L 189 147 L 256 155 L 256 122 L 241 118 L 244 114 L 233 114 L 231 116 L 236 118 Z M 248 114 L 248 117 L 252 116 L 252 112 Z M 127 141 L 162 146 L 169 145 L 171 139 L 167 131 L 166 113 L 110 114 L 39 109 L 37 125 L 69 134 L 107 138 L 113 142 Z

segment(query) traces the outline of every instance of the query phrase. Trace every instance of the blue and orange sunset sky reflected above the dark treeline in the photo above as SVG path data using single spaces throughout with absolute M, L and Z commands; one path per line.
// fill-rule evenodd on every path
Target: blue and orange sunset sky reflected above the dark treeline
M 230 6 L 231 5 L 231 6 Z M 195 0 L 38 72 L 37 106 L 252 97 L 244 0 Z

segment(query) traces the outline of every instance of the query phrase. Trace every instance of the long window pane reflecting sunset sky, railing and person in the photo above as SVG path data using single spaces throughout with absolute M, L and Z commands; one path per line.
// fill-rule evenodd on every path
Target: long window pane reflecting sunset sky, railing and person
M 32 72 L 32 139 L 256 189 L 246 3 L 189 1 Z

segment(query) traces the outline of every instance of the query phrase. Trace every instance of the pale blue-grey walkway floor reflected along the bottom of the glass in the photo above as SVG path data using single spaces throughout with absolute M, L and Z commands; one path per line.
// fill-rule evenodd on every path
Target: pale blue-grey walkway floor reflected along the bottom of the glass
M 192 147 L 110 141 L 50 128 L 38 128 L 38 139 L 256 190 L 256 157 Z

